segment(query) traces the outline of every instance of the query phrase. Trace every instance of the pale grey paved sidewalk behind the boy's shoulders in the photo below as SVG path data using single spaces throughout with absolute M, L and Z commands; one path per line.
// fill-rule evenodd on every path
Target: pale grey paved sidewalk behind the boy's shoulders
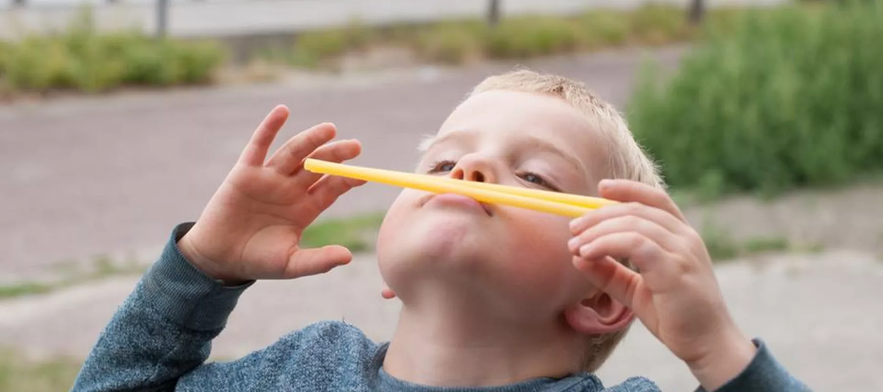
M 869 254 L 777 255 L 718 266 L 731 312 L 751 336 L 819 391 L 883 390 L 883 263 Z M 0 302 L 0 346 L 26 353 L 83 358 L 134 278 Z M 215 341 L 215 358 L 238 358 L 318 320 L 346 320 L 376 340 L 395 328 L 397 301 L 380 297 L 371 255 L 327 275 L 262 281 L 241 298 L 229 327 Z M 642 374 L 666 391 L 693 390 L 695 381 L 639 323 L 608 364 L 609 383 Z

